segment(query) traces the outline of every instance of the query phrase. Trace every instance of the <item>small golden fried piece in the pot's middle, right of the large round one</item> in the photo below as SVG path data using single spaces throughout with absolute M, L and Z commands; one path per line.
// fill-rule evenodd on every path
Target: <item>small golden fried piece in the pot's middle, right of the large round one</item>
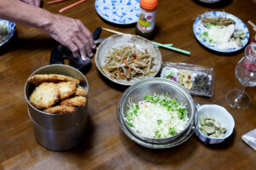
M 60 92 L 60 99 L 67 99 L 76 91 L 76 84 L 74 82 L 59 82 L 57 86 Z

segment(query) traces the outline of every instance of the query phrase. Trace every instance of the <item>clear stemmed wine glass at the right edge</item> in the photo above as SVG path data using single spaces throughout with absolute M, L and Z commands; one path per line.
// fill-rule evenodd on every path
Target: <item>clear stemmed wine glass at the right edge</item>
M 236 65 L 235 74 L 242 86 L 240 89 L 230 90 L 226 100 L 231 107 L 246 109 L 251 98 L 245 92 L 245 88 L 256 86 L 256 43 L 247 46 L 245 56 Z

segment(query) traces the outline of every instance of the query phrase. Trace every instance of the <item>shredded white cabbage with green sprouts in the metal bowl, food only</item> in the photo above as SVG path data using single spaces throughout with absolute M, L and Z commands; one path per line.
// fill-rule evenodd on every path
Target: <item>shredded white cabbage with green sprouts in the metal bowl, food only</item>
M 137 104 L 129 102 L 125 122 L 148 138 L 167 138 L 184 130 L 189 118 L 185 105 L 167 95 L 145 95 Z

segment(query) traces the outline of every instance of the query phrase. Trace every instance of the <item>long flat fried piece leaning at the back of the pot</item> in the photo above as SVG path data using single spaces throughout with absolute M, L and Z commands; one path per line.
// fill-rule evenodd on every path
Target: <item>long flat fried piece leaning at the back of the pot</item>
M 36 86 L 38 86 L 42 82 L 74 82 L 76 85 L 79 85 L 80 83 L 78 79 L 58 74 L 33 75 L 32 77 L 28 78 L 27 81 L 32 82 Z

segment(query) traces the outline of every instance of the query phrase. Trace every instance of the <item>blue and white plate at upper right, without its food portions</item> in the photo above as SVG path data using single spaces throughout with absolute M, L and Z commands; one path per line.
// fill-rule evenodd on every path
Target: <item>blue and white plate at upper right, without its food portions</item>
M 207 28 L 202 25 L 201 17 L 206 17 L 207 14 L 210 17 L 211 16 L 214 16 L 214 17 L 219 17 L 220 16 L 220 17 L 225 17 L 225 18 L 230 18 L 232 20 L 235 20 L 235 22 L 236 22 L 235 29 L 236 30 L 242 30 L 243 32 L 247 33 L 247 37 L 245 39 L 241 40 L 242 46 L 239 47 L 239 48 L 219 49 L 218 46 L 216 47 L 216 46 L 210 44 L 209 42 L 204 41 L 203 37 L 201 37 L 200 35 L 204 31 L 207 31 Z M 213 51 L 218 51 L 218 52 L 221 52 L 221 53 L 232 53 L 232 52 L 240 50 L 241 48 L 244 48 L 247 45 L 247 42 L 249 41 L 249 31 L 248 31 L 248 28 L 239 18 L 237 18 L 233 14 L 229 14 L 229 13 L 225 13 L 225 12 L 221 12 L 221 11 L 211 11 L 211 12 L 207 12 L 207 13 L 201 14 L 200 16 L 195 19 L 195 22 L 194 22 L 194 25 L 193 25 L 193 31 L 194 31 L 196 39 L 199 42 L 201 42 L 201 44 L 203 44 L 205 47 L 210 48 Z

